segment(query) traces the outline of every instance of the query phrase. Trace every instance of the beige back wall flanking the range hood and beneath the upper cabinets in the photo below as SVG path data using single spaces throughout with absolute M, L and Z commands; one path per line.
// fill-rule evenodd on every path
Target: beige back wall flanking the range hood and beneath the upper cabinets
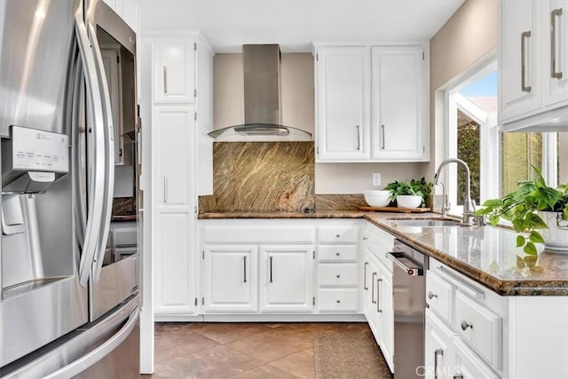
M 213 65 L 214 129 L 244 121 L 242 55 L 217 54 Z M 313 57 L 282 54 L 282 122 L 314 134 Z M 424 163 L 318 163 L 316 193 L 362 193 L 371 189 L 372 174 L 382 174 L 383 186 L 393 180 L 422 178 Z

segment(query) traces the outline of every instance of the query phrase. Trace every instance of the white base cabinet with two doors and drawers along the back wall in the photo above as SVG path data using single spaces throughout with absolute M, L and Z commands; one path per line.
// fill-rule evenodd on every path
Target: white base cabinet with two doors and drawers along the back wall
M 200 220 L 199 225 L 201 314 L 359 312 L 360 220 Z

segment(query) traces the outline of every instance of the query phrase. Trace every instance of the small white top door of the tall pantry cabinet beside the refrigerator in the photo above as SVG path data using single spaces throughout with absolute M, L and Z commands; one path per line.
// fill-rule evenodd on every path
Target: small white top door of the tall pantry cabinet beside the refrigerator
M 193 36 L 158 39 L 153 45 L 154 103 L 193 102 Z

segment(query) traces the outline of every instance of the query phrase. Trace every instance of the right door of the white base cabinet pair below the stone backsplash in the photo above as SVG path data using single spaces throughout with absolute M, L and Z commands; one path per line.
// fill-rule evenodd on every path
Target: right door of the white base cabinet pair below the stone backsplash
M 260 257 L 260 310 L 312 312 L 312 246 L 261 246 Z

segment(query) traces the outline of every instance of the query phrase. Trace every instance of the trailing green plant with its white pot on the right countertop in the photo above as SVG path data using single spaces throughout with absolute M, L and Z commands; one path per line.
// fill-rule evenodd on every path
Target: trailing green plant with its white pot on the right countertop
M 519 235 L 517 247 L 526 254 L 537 255 L 535 243 L 545 248 L 568 250 L 568 185 L 547 186 L 542 173 L 536 167 L 535 179 L 520 182 L 517 190 L 501 199 L 491 199 L 477 209 L 477 215 L 486 215 L 492 225 L 501 218 L 509 220 Z M 538 230 L 542 229 L 542 234 Z M 528 233 L 526 236 L 523 233 Z M 568 251 L 567 251 L 568 252 Z

